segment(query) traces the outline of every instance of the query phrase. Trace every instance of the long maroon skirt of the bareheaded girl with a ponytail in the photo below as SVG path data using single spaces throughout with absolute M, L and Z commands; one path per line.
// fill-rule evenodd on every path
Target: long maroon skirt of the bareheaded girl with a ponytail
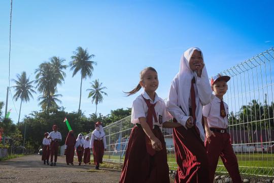
M 130 134 L 120 183 L 169 183 L 168 164 L 163 134 L 160 128 L 152 130 L 162 142 L 162 150 L 154 156 L 147 153 L 146 134 L 135 126 Z

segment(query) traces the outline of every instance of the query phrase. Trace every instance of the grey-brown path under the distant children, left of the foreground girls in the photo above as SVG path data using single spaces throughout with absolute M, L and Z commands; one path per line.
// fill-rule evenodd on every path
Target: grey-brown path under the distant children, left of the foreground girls
M 76 164 L 76 162 L 75 162 Z M 93 165 L 67 166 L 58 157 L 57 166 L 44 165 L 41 156 L 31 155 L 0 162 L 0 182 L 118 182 L 121 172 Z

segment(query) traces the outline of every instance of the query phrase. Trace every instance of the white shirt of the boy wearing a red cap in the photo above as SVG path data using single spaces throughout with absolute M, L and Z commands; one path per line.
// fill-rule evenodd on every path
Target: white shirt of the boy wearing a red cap
M 220 115 L 220 105 L 221 100 L 215 97 L 211 103 L 203 106 L 202 114 L 204 117 L 207 117 L 209 127 L 226 129 L 228 127 L 228 105 L 224 102 L 225 117 Z

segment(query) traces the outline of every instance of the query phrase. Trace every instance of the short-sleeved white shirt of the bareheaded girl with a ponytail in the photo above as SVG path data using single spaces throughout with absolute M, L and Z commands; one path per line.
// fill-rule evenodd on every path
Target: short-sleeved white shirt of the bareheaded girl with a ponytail
M 166 110 L 164 100 L 158 97 L 158 95 L 155 93 L 155 99 L 154 101 L 151 100 L 149 95 L 144 91 L 143 97 L 145 99 L 149 99 L 151 104 L 155 104 L 155 112 L 157 116 L 158 122 L 156 123 L 153 116 L 153 125 L 157 125 L 159 127 L 162 127 L 163 123 L 166 122 L 169 119 L 172 119 L 173 116 Z M 134 101 L 131 109 L 131 123 L 132 124 L 140 124 L 139 117 L 147 117 L 148 115 L 148 105 L 143 99 L 142 95 L 138 96 Z

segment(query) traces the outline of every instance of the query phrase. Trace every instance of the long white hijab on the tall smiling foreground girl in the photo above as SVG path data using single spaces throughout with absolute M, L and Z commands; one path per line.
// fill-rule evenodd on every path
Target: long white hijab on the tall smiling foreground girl
M 203 59 L 202 51 L 198 47 L 191 47 L 188 50 L 184 52 L 184 54 L 181 57 L 180 61 L 180 69 L 178 73 L 178 80 L 179 80 L 179 87 L 178 87 L 178 102 L 180 106 L 182 107 L 183 111 L 185 112 L 186 116 L 189 116 L 189 95 L 190 95 L 190 88 L 191 88 L 191 80 L 193 77 L 195 77 L 195 80 L 197 79 L 197 74 L 196 72 L 193 72 L 190 67 L 189 67 L 189 60 L 191 58 L 192 53 L 197 50 L 201 52 L 201 56 Z M 209 83 L 209 76 L 207 69 L 205 66 L 202 69 L 201 73 L 201 80 L 203 80 L 203 83 Z M 208 84 L 209 87 L 208 89 L 211 91 L 210 84 Z M 197 98 L 197 97 L 196 97 Z M 198 105 L 199 100 L 196 100 L 196 106 Z M 203 105 L 203 104 L 202 104 Z M 197 110 L 196 110 L 196 116 L 197 115 Z

